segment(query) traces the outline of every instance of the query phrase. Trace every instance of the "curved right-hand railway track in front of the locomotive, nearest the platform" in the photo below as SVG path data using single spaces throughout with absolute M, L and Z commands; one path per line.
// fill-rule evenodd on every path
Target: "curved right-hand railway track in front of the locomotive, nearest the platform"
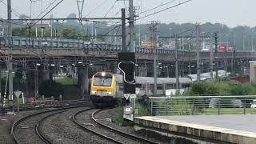
M 87 126 L 83 126 L 82 123 L 78 122 L 78 115 L 83 114 L 88 111 L 90 112 L 90 121 L 86 120 Z M 86 109 L 80 110 L 76 114 L 73 114 L 72 119 L 73 122 L 76 123 L 82 130 L 90 131 L 93 134 L 96 134 L 106 140 L 114 143 L 126 144 L 126 143 L 152 143 L 156 144 L 158 142 L 153 142 L 145 138 L 141 138 L 135 136 L 133 134 L 127 134 L 122 132 L 121 130 L 116 130 L 113 127 L 106 126 L 105 124 L 98 122 L 96 118 L 94 118 L 95 114 L 98 114 L 102 110 L 94 110 L 94 109 Z

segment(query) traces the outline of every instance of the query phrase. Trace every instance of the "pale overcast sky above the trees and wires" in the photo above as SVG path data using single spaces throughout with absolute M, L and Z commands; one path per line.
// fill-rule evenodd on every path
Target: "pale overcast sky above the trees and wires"
M 0 0 L 0 18 L 6 18 L 6 6 Z M 30 0 L 11 0 L 12 6 L 18 14 L 30 15 Z M 36 1 L 36 0 L 33 0 Z M 42 6 L 41 6 L 42 1 Z M 32 4 L 32 17 L 36 18 L 41 10 L 46 9 L 50 2 L 59 2 L 60 0 L 38 0 Z M 155 6 L 160 6 L 162 3 L 170 2 L 171 0 L 134 0 L 134 6 L 137 7 L 137 12 L 140 13 L 149 10 Z M 158 10 L 165 9 L 169 6 L 174 6 L 179 1 L 176 0 L 169 5 L 162 6 Z M 56 3 L 55 2 L 55 3 Z M 76 0 L 64 0 L 56 9 L 54 9 L 54 18 L 66 18 L 70 13 L 78 14 Z M 128 1 L 116 0 L 85 0 L 83 16 L 87 17 L 119 17 L 118 13 L 124 6 L 128 7 Z M 113 6 L 113 9 L 110 8 Z M 138 23 L 146 23 L 152 20 L 160 22 L 221 22 L 230 27 L 234 26 L 256 26 L 256 1 L 255 0 L 192 0 L 182 6 L 174 7 L 159 14 L 154 14 L 148 18 L 143 18 Z M 94 10 L 96 8 L 96 10 Z M 91 13 L 90 13 L 91 12 Z M 151 14 L 154 11 L 147 12 Z M 140 14 L 142 17 L 145 14 Z M 15 15 L 13 14 L 15 18 Z M 17 18 L 17 17 L 16 17 Z

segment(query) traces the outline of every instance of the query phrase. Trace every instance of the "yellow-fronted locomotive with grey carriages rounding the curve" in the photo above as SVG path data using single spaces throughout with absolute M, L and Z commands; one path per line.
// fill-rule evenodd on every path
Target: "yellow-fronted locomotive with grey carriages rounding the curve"
M 124 100 L 122 75 L 97 72 L 90 80 L 90 100 L 94 106 L 114 106 Z M 153 77 L 136 77 L 136 94 L 151 96 L 154 86 Z M 190 78 L 179 78 L 181 88 L 187 88 Z M 158 78 L 158 89 L 163 91 L 175 88 L 176 78 Z M 123 102 L 123 101 L 122 101 Z

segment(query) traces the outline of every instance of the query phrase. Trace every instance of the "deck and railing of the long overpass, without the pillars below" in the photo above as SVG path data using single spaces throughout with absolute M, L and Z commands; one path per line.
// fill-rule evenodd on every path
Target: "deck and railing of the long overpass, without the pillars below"
M 8 38 L 0 37 L 1 58 L 6 58 Z M 90 62 L 95 65 L 116 65 L 117 54 L 122 51 L 121 45 L 103 42 L 83 42 L 82 40 L 59 38 L 18 38 L 12 39 L 14 62 L 49 62 L 73 64 L 78 61 Z M 162 66 L 174 66 L 175 50 L 158 48 L 156 50 L 158 62 Z M 149 47 L 135 47 L 136 61 L 139 67 L 152 67 L 154 49 Z M 195 50 L 178 50 L 179 68 L 184 74 L 196 71 L 197 52 Z M 229 71 L 249 66 L 248 61 L 256 59 L 256 51 L 225 51 L 218 52 L 218 69 Z M 200 61 L 202 72 L 210 71 L 210 52 L 201 51 Z M 192 70 L 186 70 L 189 67 Z M 248 68 L 248 67 L 247 67 Z M 194 70 L 193 70 L 194 69 Z M 150 71 L 150 70 L 149 70 Z M 152 73 L 152 72 L 151 72 Z M 181 72 L 182 73 L 182 72 Z M 147 74 L 142 74 L 147 76 Z M 151 75 L 151 74 L 150 74 Z M 171 75 L 171 74 L 170 74 Z

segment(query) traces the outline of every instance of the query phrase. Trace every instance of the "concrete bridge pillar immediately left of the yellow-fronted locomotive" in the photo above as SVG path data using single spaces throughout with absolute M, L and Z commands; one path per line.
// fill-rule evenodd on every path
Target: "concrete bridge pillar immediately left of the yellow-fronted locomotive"
M 82 99 L 89 98 L 88 66 L 78 67 L 78 88 Z

